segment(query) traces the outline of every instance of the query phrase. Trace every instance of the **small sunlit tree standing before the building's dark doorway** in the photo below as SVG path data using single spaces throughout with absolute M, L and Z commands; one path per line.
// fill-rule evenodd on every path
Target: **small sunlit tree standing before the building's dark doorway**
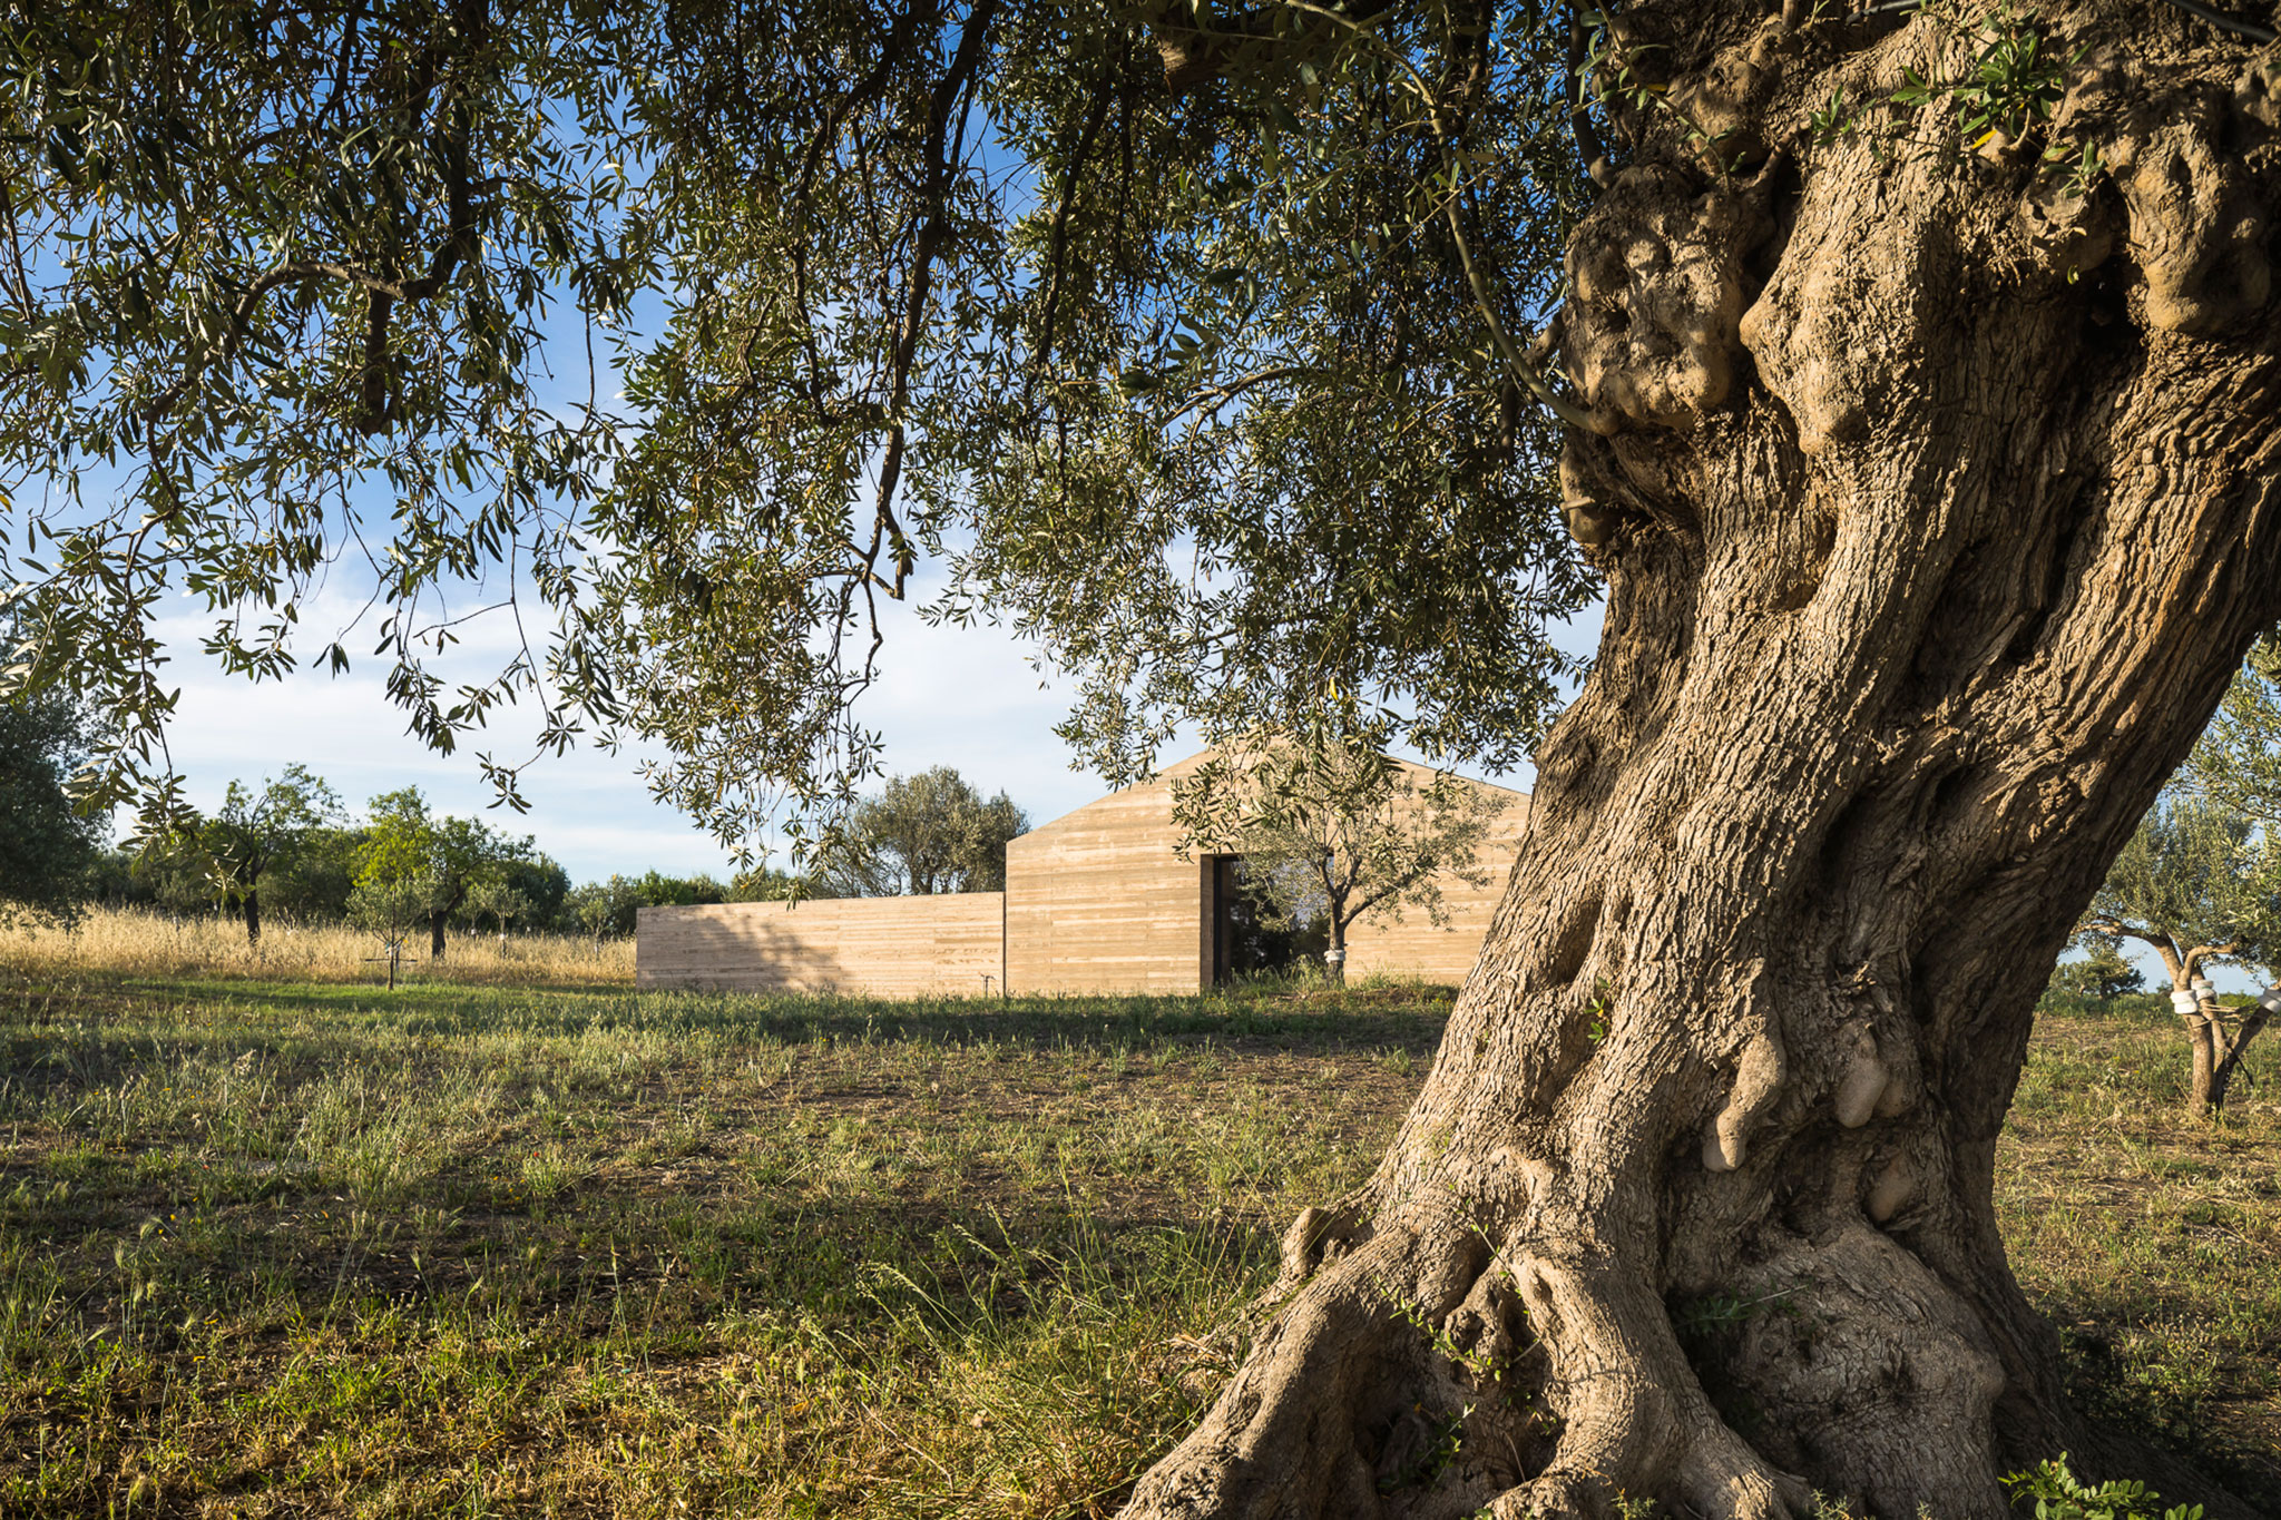
M 1448 923 L 1442 882 L 1483 886 L 1480 843 L 1505 798 L 1448 773 L 1419 786 L 1401 761 L 1364 745 L 1307 752 L 1257 743 L 1207 761 L 1175 788 L 1191 839 L 1243 857 L 1243 891 L 1271 925 L 1321 916 L 1323 964 L 1346 980 L 1346 930 L 1417 907 Z

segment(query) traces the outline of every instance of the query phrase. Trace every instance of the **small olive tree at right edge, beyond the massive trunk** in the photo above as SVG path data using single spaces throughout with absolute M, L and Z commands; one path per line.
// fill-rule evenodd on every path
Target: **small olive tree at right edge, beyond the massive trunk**
M 2226 1103 L 2242 1053 L 2265 1028 L 2263 1007 L 2229 1025 L 2201 975 L 2229 959 L 2270 964 L 2281 914 L 2281 864 L 2267 836 L 2240 811 L 2206 798 L 2158 800 L 2114 857 L 2083 918 L 2085 937 L 2119 955 L 2119 939 L 2153 946 L 2169 973 L 2172 1007 L 2192 1051 L 2187 1112 L 2203 1119 Z

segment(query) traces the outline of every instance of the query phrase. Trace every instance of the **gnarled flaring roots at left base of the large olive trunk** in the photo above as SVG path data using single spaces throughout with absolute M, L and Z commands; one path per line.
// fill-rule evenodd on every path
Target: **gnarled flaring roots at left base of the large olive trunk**
M 1302 1217 L 1286 1267 L 1337 1240 L 1325 1224 L 1353 1228 Z M 1811 1513 L 1720 1420 L 1633 1274 L 1515 1265 L 1439 1219 L 1380 1226 L 1298 1285 L 1125 1515 L 1604 1520 L 1649 1495 L 1704 1520 Z

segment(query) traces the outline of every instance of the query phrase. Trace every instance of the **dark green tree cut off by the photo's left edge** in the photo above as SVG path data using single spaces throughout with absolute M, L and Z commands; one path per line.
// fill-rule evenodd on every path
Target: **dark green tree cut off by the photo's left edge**
M 0 702 L 0 918 L 78 916 L 105 825 L 73 807 L 66 782 L 87 754 L 87 718 L 62 695 Z

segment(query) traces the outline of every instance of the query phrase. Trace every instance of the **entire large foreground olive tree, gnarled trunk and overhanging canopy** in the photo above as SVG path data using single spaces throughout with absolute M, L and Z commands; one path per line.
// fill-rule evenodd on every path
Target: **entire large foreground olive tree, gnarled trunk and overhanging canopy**
M 417 734 L 650 741 L 801 868 L 926 570 L 1115 782 L 1186 722 L 1533 752 L 1414 1114 L 1129 1515 L 1442 1429 L 1526 1470 L 1403 1506 L 1991 1515 L 2092 1452 L 1989 1228 L 2032 1007 L 2281 583 L 2235 11 L 18 7 L 0 695 L 89 693 L 98 802 L 171 814 L 160 611 L 347 663 L 294 631 L 363 542 Z M 547 604 L 493 679 L 427 663 L 474 581 Z

